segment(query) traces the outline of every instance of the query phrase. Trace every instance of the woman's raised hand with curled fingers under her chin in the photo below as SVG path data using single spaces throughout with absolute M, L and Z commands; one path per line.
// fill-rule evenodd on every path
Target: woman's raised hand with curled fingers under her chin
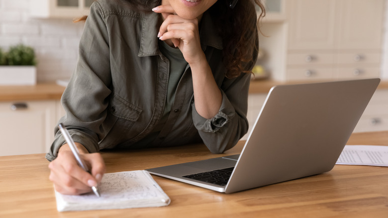
M 159 29 L 160 40 L 172 40 L 189 65 L 205 60 L 199 41 L 198 19 L 184 19 L 177 15 L 171 5 L 160 5 L 152 9 L 161 13 L 165 20 Z

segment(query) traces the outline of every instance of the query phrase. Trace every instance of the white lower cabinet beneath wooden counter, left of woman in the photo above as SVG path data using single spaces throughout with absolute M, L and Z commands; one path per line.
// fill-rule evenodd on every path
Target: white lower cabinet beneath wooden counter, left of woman
M 0 156 L 47 152 L 55 119 L 55 101 L 1 102 Z

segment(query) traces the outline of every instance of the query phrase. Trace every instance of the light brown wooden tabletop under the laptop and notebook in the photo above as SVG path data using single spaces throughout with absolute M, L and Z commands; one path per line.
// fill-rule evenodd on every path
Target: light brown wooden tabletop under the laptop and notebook
M 356 133 L 348 144 L 388 145 L 388 132 Z M 104 151 L 102 155 L 107 172 L 117 172 L 237 154 L 242 146 L 243 142 L 239 142 L 218 155 L 209 153 L 201 144 Z M 328 173 L 234 194 L 153 176 L 170 196 L 170 206 L 59 213 L 47 165 L 44 154 L 0 157 L 1 218 L 388 217 L 387 167 L 336 165 Z

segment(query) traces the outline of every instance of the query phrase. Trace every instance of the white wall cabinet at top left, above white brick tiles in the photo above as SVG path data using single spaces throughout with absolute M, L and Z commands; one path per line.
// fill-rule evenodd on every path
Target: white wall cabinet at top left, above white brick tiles
M 89 13 L 94 0 L 31 0 L 30 15 L 40 18 L 76 18 Z

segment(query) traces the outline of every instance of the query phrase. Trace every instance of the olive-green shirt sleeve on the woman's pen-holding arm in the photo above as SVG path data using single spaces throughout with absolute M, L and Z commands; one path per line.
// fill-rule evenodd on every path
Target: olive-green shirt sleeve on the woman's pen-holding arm
M 108 38 L 103 13 L 95 2 L 80 40 L 76 69 L 62 95 L 66 115 L 59 120 L 68 128 L 73 140 L 89 152 L 97 152 L 98 141 L 104 137 L 101 123 L 106 117 L 111 93 L 108 88 L 111 83 Z M 65 144 L 58 127 L 54 131 L 55 140 L 46 154 L 49 161 L 57 157 L 59 148 Z

